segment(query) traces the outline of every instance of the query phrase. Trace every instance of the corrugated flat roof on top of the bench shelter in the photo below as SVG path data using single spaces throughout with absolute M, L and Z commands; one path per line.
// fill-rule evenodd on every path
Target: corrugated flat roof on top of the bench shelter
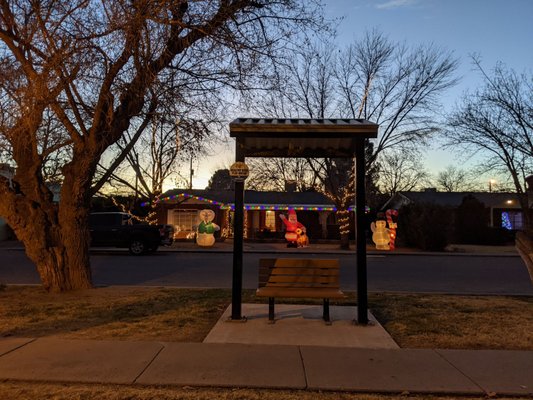
M 230 136 L 243 157 L 353 157 L 378 125 L 365 119 L 237 118 Z

